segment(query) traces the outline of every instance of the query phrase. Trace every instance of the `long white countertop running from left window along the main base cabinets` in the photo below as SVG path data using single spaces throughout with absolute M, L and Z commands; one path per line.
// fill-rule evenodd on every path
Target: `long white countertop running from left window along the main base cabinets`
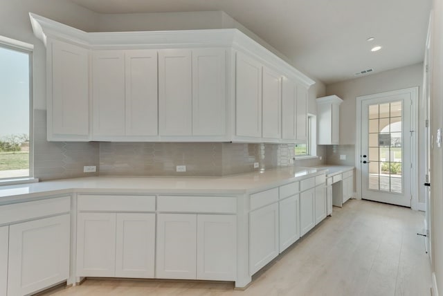
M 282 167 L 224 177 L 69 178 L 0 187 L 0 205 L 43 196 L 78 193 L 249 194 L 325 173 L 325 167 Z

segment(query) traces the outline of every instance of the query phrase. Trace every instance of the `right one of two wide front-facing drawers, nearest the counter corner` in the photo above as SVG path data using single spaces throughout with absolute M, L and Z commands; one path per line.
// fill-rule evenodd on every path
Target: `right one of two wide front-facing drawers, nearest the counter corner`
M 160 212 L 192 212 L 235 214 L 237 198 L 234 196 L 159 196 Z

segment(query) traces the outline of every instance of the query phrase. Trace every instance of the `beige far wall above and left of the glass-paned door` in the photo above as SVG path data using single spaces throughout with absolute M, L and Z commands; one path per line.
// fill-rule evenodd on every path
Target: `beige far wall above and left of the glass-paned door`
M 338 95 L 343 99 L 340 105 L 340 144 L 355 145 L 356 97 L 413 86 L 422 89 L 422 84 L 423 64 L 420 63 L 327 85 L 326 95 Z

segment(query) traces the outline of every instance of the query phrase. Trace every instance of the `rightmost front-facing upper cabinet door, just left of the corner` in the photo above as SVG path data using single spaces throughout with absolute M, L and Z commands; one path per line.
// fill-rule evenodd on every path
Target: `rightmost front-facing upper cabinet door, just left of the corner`
M 192 135 L 226 134 L 226 50 L 192 50 Z

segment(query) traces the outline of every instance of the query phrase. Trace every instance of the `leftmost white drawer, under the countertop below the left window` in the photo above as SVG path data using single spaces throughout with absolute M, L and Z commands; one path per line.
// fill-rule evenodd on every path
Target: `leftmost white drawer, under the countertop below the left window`
M 71 196 L 0 206 L 0 225 L 71 211 Z

